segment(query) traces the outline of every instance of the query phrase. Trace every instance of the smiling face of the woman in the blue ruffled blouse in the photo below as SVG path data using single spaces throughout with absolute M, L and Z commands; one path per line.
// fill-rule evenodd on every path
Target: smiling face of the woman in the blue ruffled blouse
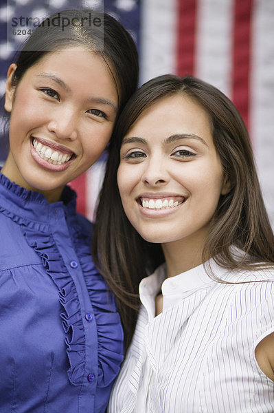
M 12 87 L 10 153 L 2 173 L 26 189 L 60 199 L 62 189 L 98 160 L 111 137 L 118 96 L 98 54 L 82 47 L 46 54 Z

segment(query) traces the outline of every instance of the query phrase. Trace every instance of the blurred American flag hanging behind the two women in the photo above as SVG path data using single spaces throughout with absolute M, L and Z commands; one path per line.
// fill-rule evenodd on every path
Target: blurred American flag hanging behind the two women
M 222 90 L 249 129 L 266 208 L 274 225 L 274 0 L 1 0 L 0 93 L 18 36 L 7 23 L 19 10 L 47 17 L 65 8 L 104 6 L 139 50 L 140 85 L 159 74 L 192 74 Z M 0 140 L 0 164 L 7 149 Z M 71 182 L 78 211 L 93 219 L 104 161 Z

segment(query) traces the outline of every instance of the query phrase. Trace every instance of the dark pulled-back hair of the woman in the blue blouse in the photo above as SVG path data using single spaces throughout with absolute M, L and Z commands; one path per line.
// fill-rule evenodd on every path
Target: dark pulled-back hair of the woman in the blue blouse
M 98 19 L 100 24 L 88 24 L 90 17 L 92 21 Z M 64 28 L 62 19 L 73 23 Z M 113 76 L 121 110 L 137 88 L 137 49 L 130 34 L 117 20 L 97 10 L 62 10 L 45 19 L 27 38 L 22 50 L 16 54 L 14 63 L 17 68 L 12 85 L 16 87 L 25 72 L 41 61 L 46 54 L 68 46 L 81 46 L 102 56 Z M 5 117 L 8 119 L 9 114 L 6 113 Z

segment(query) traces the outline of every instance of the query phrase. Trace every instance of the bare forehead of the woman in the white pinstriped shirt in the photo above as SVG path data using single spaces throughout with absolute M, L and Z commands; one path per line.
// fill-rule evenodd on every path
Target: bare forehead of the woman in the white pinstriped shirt
M 201 105 L 185 94 L 175 94 L 157 100 L 141 112 L 126 136 L 141 134 L 146 138 L 166 138 L 176 133 L 196 134 L 212 140 L 209 115 Z

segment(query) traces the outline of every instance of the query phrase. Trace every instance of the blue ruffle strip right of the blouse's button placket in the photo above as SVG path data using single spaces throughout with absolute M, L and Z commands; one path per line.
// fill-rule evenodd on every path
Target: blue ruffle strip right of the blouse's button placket
M 115 298 L 91 260 L 91 234 L 73 224 L 72 240 L 89 291 L 98 331 L 98 386 L 106 387 L 115 379 L 124 359 L 124 332 Z M 80 248 L 78 249 L 78 246 Z

